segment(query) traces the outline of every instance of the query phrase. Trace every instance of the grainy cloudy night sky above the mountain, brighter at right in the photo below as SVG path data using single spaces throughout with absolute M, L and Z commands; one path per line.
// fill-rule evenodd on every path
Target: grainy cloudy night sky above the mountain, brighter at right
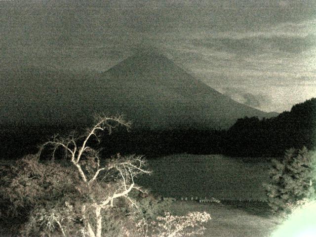
M 316 97 L 315 0 L 0 0 L 2 69 L 106 71 L 155 48 L 234 100 Z

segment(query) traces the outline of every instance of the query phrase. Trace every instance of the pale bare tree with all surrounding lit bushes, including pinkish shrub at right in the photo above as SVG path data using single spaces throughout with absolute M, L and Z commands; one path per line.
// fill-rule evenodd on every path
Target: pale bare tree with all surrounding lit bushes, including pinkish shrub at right
M 120 155 L 102 159 L 100 150 L 93 148 L 91 142 L 93 138 L 99 141 L 102 132 L 111 133 L 119 125 L 127 129 L 130 126 L 121 117 L 97 116 L 95 125 L 84 135 L 73 132 L 68 137 L 54 136 L 40 146 L 38 154 L 29 155 L 12 167 L 5 177 L 8 185 L 0 191 L 4 190 L 15 208 L 22 206 L 28 211 L 23 236 L 175 237 L 203 233 L 200 223 L 210 220 L 207 213 L 181 217 L 167 213 L 165 217 L 155 217 L 153 222 L 144 216 L 142 208 L 153 207 L 146 202 L 144 205 L 131 193 L 147 192 L 135 184 L 137 175 L 150 173 L 145 159 Z M 49 148 L 51 160 L 41 162 L 43 151 L 47 154 Z M 57 162 L 55 156 L 63 156 L 63 162 Z M 127 212 L 121 211 L 126 208 Z M 120 218 L 120 223 L 116 218 Z M 113 228 L 106 227 L 109 222 L 118 224 L 114 233 Z

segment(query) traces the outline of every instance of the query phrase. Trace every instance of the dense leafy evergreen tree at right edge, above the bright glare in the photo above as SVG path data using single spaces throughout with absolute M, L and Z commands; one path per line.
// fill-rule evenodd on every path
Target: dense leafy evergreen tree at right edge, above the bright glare
M 265 184 L 268 204 L 274 213 L 291 212 L 304 198 L 315 197 L 316 156 L 307 148 L 289 149 L 283 160 L 273 160 L 271 181 Z

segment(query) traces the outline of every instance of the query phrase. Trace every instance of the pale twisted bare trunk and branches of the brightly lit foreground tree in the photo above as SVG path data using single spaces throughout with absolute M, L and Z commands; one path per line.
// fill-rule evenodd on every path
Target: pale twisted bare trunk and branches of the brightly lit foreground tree
M 66 158 L 70 158 L 71 163 L 77 168 L 83 183 L 81 187 L 85 189 L 82 191 L 79 190 L 79 192 L 89 194 L 90 198 L 89 203 L 82 203 L 81 206 L 82 221 L 89 237 L 101 237 L 101 211 L 113 207 L 113 202 L 116 198 L 125 197 L 135 205 L 128 197 L 128 193 L 132 189 L 141 190 L 140 187 L 135 185 L 134 178 L 140 173 L 150 173 L 150 171 L 143 168 L 145 161 L 142 157 L 131 156 L 122 158 L 118 155 L 118 157 L 112 158 L 105 165 L 101 165 L 99 152 L 87 146 L 91 137 L 94 136 L 99 139 L 98 132 L 108 130 L 111 133 L 112 129 L 117 125 L 123 125 L 127 128 L 130 126 L 130 124 L 125 122 L 121 117 L 98 116 L 96 118 L 96 124 L 87 130 L 87 134 L 80 145 L 74 135 L 71 135 L 67 139 L 57 139 L 55 137 L 53 141 L 46 142 L 43 145 L 43 148 L 47 145 L 52 145 L 54 151 L 56 151 L 56 148 L 59 146 L 64 148 Z M 98 191 L 102 190 L 102 184 L 100 184 L 98 180 L 106 180 L 109 177 L 114 177 L 114 175 L 116 175 L 116 182 L 114 188 L 112 188 L 113 191 L 107 192 L 106 195 L 104 195 L 104 192 L 102 192 L 103 195 L 98 195 Z M 89 218 L 87 218 L 87 209 L 94 210 L 96 220 L 94 228 Z M 62 229 L 61 227 L 61 230 Z

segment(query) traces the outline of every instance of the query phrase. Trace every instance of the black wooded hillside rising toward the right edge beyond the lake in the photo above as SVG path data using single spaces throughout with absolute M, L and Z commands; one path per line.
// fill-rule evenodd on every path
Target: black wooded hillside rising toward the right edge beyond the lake
M 227 131 L 225 153 L 234 156 L 283 156 L 289 148 L 316 146 L 316 98 L 268 119 L 240 118 Z

